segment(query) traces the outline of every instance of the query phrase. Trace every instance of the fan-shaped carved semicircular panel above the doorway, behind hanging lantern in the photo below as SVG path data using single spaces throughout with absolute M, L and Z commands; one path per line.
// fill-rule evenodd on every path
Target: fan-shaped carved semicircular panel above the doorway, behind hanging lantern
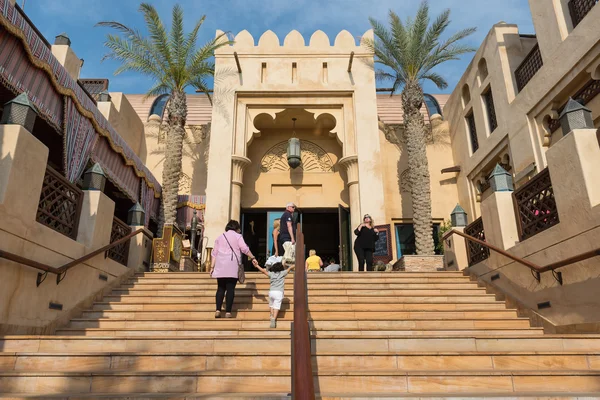
M 280 142 L 267 150 L 260 161 L 261 172 L 289 171 L 287 144 L 287 141 Z M 304 172 L 333 172 L 333 160 L 320 146 L 307 140 L 301 140 L 300 147 L 302 164 L 299 168 L 302 168 Z

